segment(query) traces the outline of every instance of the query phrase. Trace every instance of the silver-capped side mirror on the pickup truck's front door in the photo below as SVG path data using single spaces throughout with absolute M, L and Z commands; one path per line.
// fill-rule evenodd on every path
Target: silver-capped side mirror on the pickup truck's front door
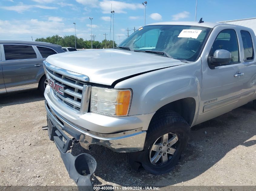
M 227 64 L 230 59 L 231 53 L 228 50 L 218 49 L 215 50 L 213 56 L 208 57 L 208 63 L 214 68 L 215 66 Z

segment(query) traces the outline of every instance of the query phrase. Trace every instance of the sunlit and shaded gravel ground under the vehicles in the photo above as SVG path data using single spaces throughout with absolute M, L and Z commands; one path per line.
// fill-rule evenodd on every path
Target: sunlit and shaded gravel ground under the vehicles
M 131 169 L 127 154 L 95 145 L 86 152 L 98 162 L 94 185 L 256 186 L 256 111 L 248 103 L 194 126 L 175 169 L 152 175 Z M 75 186 L 55 143 L 48 139 L 44 97 L 38 91 L 0 97 L 0 185 Z M 255 188 L 255 187 L 254 187 Z

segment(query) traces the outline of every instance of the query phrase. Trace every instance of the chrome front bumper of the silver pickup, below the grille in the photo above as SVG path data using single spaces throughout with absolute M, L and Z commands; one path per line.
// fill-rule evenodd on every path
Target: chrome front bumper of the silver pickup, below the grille
M 48 120 L 51 121 L 53 126 L 67 132 L 77 139 L 80 145 L 86 149 L 89 149 L 89 145 L 96 144 L 108 147 L 115 152 L 136 152 L 143 150 L 146 131 L 142 131 L 142 128 L 114 134 L 102 134 L 73 125 L 70 121 L 60 116 L 47 101 L 45 101 L 45 108 Z

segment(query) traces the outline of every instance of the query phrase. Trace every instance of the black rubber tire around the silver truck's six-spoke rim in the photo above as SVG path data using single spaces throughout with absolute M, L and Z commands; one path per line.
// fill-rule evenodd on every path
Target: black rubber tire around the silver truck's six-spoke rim
M 162 165 L 154 165 L 150 161 L 150 150 L 155 141 L 162 135 L 175 133 L 178 136 L 176 151 L 168 162 Z M 190 127 L 186 120 L 178 113 L 170 110 L 161 110 L 153 116 L 146 135 L 144 150 L 129 153 L 129 163 L 133 169 L 138 169 L 141 164 L 146 171 L 152 174 L 165 174 L 174 169 L 189 140 Z M 176 144 L 176 143 L 175 143 Z M 136 170 L 137 170 L 136 169 Z

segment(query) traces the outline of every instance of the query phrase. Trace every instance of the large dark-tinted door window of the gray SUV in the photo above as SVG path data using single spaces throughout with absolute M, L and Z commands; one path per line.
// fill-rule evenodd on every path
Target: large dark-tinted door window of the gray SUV
M 36 59 L 35 50 L 31 45 L 4 44 L 5 60 Z

